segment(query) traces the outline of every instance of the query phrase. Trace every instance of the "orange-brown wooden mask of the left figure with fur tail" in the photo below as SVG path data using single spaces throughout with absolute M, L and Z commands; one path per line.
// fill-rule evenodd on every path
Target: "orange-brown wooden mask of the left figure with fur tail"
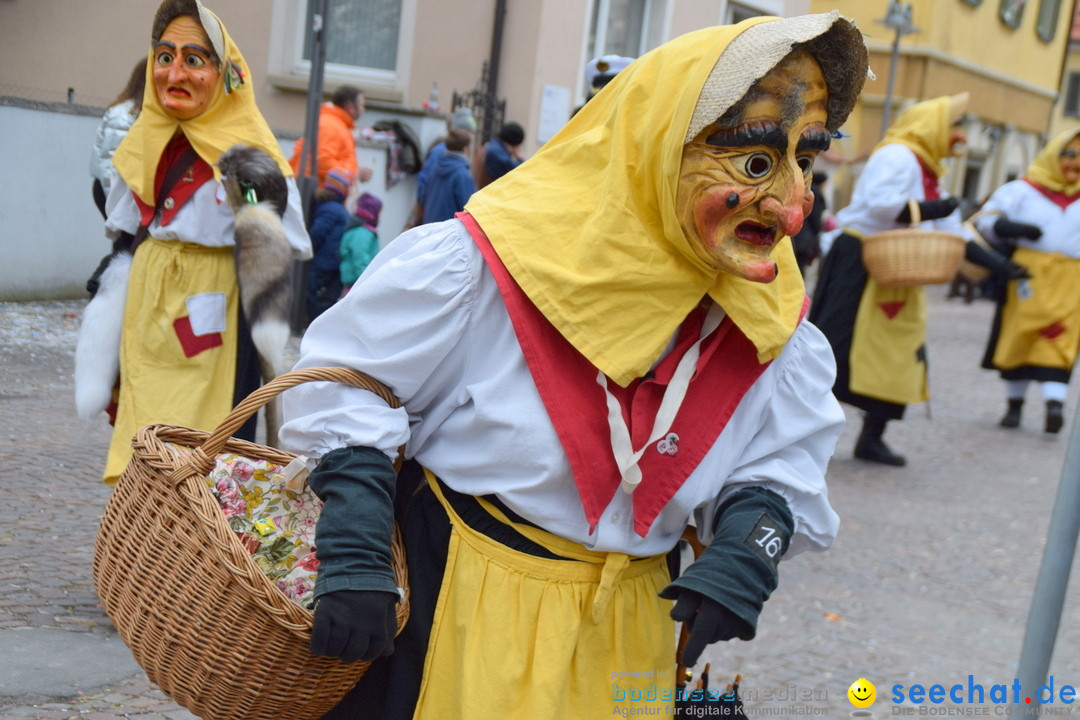
M 165 112 L 198 118 L 210 107 L 220 76 L 202 26 L 188 15 L 170 23 L 153 46 L 153 87 Z

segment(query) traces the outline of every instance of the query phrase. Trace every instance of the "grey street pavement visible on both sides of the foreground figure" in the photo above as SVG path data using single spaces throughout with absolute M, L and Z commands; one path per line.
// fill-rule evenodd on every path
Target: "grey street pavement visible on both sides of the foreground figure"
M 849 408 L 829 467 L 836 544 L 781 566 L 757 639 L 706 651 L 714 673 L 743 675 L 751 714 L 847 718 L 847 689 L 866 678 L 878 691 L 870 710 L 885 718 L 907 709 L 893 707 L 894 684 L 970 675 L 988 690 L 1016 676 L 1077 391 L 1058 437 L 1040 432 L 1034 392 L 1018 431 L 997 427 L 1002 393 L 977 367 L 993 308 L 944 295 L 929 290 L 934 398 L 887 434 L 908 466 L 853 460 Z M 109 427 L 73 412 L 82 307 L 0 303 L 0 720 L 186 720 L 134 664 L 93 590 Z M 1080 684 L 1080 603 L 1066 603 L 1051 674 L 1058 688 Z

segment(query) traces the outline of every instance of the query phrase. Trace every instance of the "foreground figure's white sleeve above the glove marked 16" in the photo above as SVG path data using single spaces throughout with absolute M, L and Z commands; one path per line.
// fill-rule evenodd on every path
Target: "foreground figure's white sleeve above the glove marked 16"
M 767 488 L 787 501 L 795 519 L 789 558 L 836 539 L 840 519 L 828 503 L 825 471 L 845 417 L 833 395 L 836 361 L 821 330 L 800 323 L 775 362 L 782 366 L 773 394 L 723 491 L 698 511 L 696 524 L 707 543 L 717 508 L 733 492 Z

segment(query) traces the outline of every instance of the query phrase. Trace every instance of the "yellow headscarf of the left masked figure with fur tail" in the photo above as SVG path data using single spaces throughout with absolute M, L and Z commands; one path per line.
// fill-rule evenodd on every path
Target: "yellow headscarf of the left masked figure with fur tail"
M 201 4 L 199 9 L 204 30 L 207 22 L 213 22 L 220 27 L 221 35 L 221 47 L 215 47 L 221 58 L 220 77 L 210 106 L 202 114 L 191 120 L 177 120 L 165 112 L 153 86 L 154 49 L 151 46 L 146 66 L 143 110 L 112 155 L 112 164 L 120 177 L 148 205 L 154 204 L 153 179 L 158 171 L 158 161 L 177 128 L 184 132 L 199 157 L 214 167 L 215 177 L 219 176 L 215 165 L 217 159 L 238 142 L 266 151 L 278 161 L 278 167 L 286 177 L 293 175 L 293 168 L 282 154 L 270 126 L 255 105 L 255 90 L 244 56 L 232 42 L 232 38 L 217 15 Z M 207 36 L 214 38 L 208 31 Z M 230 66 L 230 63 L 233 66 Z M 242 82 L 237 82 L 238 78 Z M 227 79 L 230 85 L 228 92 Z

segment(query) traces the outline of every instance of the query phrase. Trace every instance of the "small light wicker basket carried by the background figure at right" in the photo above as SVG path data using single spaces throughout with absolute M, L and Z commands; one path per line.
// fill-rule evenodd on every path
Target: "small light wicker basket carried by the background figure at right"
M 919 228 L 919 204 L 908 202 L 912 227 L 863 237 L 863 264 L 878 285 L 915 287 L 947 283 L 963 259 L 962 236 Z

